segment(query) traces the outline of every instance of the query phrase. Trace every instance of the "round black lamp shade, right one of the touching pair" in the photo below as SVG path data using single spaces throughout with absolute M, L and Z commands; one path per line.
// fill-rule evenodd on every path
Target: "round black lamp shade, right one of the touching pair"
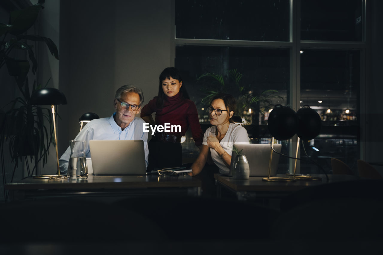
M 298 117 L 298 129 L 296 134 L 302 140 L 311 140 L 318 136 L 321 132 L 322 120 L 321 116 L 309 106 L 300 108 L 296 111 Z

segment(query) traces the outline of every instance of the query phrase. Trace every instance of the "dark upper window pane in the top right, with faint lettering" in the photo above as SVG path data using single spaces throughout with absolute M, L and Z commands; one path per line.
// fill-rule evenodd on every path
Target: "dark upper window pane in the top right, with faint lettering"
M 363 0 L 301 1 L 301 39 L 362 41 Z

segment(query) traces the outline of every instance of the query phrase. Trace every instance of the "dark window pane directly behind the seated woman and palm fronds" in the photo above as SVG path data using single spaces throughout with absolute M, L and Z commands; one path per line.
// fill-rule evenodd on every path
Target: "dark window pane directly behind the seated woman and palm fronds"
M 176 47 L 175 66 L 183 75 L 183 85 L 186 86 L 190 99 L 196 103 L 200 114 L 200 123 L 203 131 L 210 127 L 206 106 L 209 101 L 202 99 L 211 91 L 230 93 L 237 100 L 237 108 L 240 95 L 260 95 L 264 90 L 277 90 L 277 93 L 265 93 L 269 103 L 259 101 L 237 110 L 237 116 L 246 121 L 245 128 L 253 143 L 270 143 L 267 119 L 269 104 L 287 105 L 289 88 L 289 49 L 264 49 L 247 47 L 218 47 L 218 46 L 178 46 Z M 242 74 L 238 83 L 231 79 L 232 70 Z M 201 77 L 209 72 L 214 75 L 222 75 L 224 86 L 213 75 Z M 238 77 L 238 76 L 237 76 Z M 241 91 L 241 87 L 243 87 Z M 270 105 L 269 107 L 273 107 Z M 251 109 L 251 110 L 249 110 Z M 190 134 L 188 135 L 190 137 Z M 288 154 L 288 141 L 282 141 L 282 153 Z M 195 146 L 183 150 L 193 149 Z M 186 152 L 188 153 L 188 152 Z M 191 152 L 192 153 L 192 152 Z M 198 155 L 198 149 L 196 149 Z M 288 159 L 280 158 L 278 171 L 286 173 Z

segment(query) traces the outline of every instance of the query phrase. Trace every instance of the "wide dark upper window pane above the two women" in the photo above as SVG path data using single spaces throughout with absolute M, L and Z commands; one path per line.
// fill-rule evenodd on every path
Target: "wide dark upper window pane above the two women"
M 176 38 L 289 41 L 290 0 L 175 2 Z

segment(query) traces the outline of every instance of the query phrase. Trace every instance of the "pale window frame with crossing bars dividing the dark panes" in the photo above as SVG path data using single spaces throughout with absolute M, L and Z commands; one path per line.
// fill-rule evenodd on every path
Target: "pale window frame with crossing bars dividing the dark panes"
M 360 159 L 365 160 L 365 141 L 366 130 L 362 123 L 365 123 L 366 112 L 366 63 L 367 63 L 367 49 L 368 49 L 368 34 L 370 31 L 367 29 L 367 23 L 370 23 L 367 11 L 367 1 L 363 0 L 363 29 L 362 41 L 314 41 L 314 40 L 301 40 L 300 39 L 300 6 L 301 0 L 290 0 L 290 26 L 289 26 L 289 41 L 288 42 L 274 42 L 274 41 L 241 41 L 241 40 L 213 40 L 213 39 L 185 39 L 175 38 L 175 0 L 172 0 L 171 10 L 171 41 L 170 41 L 170 59 L 171 64 L 175 64 L 175 51 L 177 46 L 230 46 L 230 47 L 267 47 L 267 48 L 287 48 L 290 49 L 290 86 L 289 86 L 289 101 L 290 107 L 297 111 L 300 108 L 300 49 L 338 49 L 347 50 L 354 49 L 360 51 L 360 105 L 359 105 L 359 126 L 360 126 L 360 142 L 358 143 L 360 149 Z M 290 157 L 295 157 L 297 139 L 295 135 L 290 140 Z M 298 151 L 300 155 L 300 151 Z M 294 170 L 295 160 L 290 159 L 289 169 L 290 173 Z M 297 161 L 296 172 L 300 173 L 300 161 Z

